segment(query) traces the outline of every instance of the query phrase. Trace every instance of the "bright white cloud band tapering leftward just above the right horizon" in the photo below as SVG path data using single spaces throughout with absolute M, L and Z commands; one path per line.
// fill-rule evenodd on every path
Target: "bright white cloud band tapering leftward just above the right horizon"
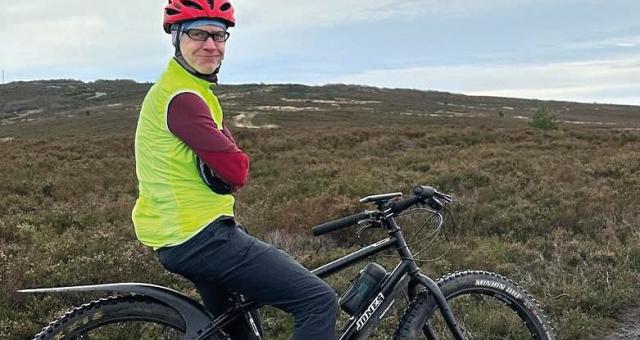
M 640 104 L 638 57 L 565 63 L 451 65 L 370 70 L 329 77 L 325 81 L 442 90 L 470 95 L 586 102 L 607 100 Z

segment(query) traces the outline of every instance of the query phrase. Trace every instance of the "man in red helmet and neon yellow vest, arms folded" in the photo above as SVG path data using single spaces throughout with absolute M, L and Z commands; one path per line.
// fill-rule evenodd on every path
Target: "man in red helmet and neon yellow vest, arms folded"
M 335 292 L 289 255 L 234 220 L 233 192 L 249 174 L 213 93 L 234 8 L 227 0 L 169 0 L 164 29 L 175 56 L 144 99 L 136 130 L 138 239 L 168 270 L 193 281 L 218 315 L 230 292 L 295 317 L 293 338 L 335 338 Z M 250 338 L 239 320 L 233 339 Z

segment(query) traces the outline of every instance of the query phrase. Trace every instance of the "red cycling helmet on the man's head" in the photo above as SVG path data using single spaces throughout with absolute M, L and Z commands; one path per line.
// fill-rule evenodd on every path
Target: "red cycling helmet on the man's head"
M 233 5 L 228 0 L 169 0 L 164 7 L 164 31 L 171 32 L 171 25 L 187 20 L 219 19 L 229 27 L 236 25 Z

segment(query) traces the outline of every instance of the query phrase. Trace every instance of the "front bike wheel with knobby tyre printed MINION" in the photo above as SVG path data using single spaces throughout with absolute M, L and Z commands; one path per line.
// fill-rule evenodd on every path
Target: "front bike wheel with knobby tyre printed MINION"
M 466 339 L 555 339 L 537 302 L 513 281 L 462 271 L 437 281 Z M 395 339 L 453 339 L 435 298 L 421 292 L 405 311 Z

